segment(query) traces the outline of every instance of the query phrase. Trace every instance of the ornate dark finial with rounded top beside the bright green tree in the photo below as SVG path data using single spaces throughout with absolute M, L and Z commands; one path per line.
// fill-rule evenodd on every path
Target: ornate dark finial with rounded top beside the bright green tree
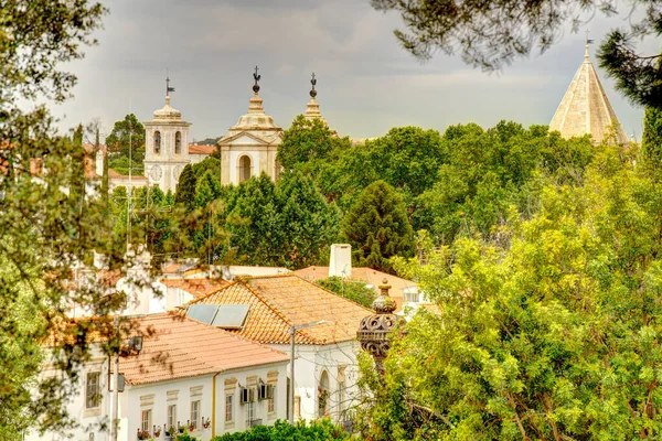
M 404 321 L 403 318 L 393 313 L 396 304 L 395 300 L 388 295 L 389 289 L 388 280 L 382 280 L 380 295 L 372 303 L 375 313 L 363 319 L 356 332 L 361 348 L 373 356 L 380 374 L 384 373 L 383 362 L 391 346 L 388 333 Z

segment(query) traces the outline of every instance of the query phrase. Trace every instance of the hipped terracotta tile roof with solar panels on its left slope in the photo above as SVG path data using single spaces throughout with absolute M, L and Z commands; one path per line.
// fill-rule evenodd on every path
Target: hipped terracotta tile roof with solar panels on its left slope
M 192 301 L 202 304 L 247 304 L 242 330 L 232 331 L 260 343 L 288 344 L 292 324 L 325 320 L 298 330 L 297 343 L 329 344 L 356 337 L 359 323 L 371 310 L 288 273 L 239 278 L 228 287 Z

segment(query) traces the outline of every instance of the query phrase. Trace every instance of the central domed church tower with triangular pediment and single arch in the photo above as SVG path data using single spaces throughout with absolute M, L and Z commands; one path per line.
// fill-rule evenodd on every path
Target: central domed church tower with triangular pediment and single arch
M 248 112 L 217 142 L 221 151 L 221 183 L 224 185 L 238 185 L 263 172 L 276 180 L 280 171 L 276 153 L 282 141 L 282 129 L 274 122 L 274 118 L 265 114 L 263 99 L 258 94 L 261 75 L 257 72 L 256 66 Z

